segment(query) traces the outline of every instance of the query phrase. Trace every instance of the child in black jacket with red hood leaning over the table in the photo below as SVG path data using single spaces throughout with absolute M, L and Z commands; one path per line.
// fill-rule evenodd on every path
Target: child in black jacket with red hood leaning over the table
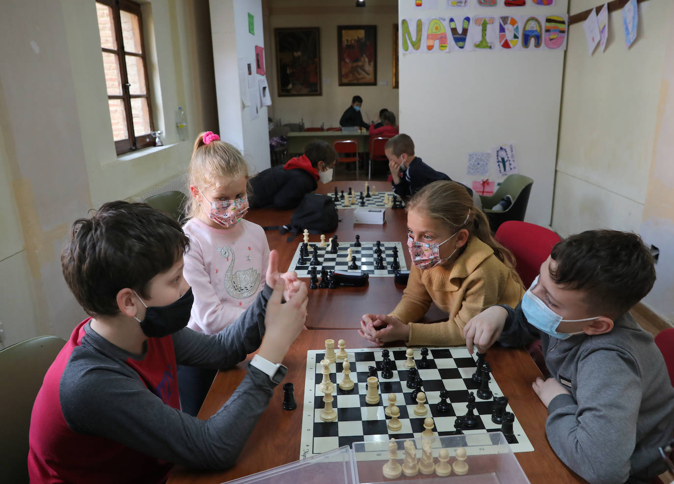
M 273 207 L 290 210 L 299 207 L 304 195 L 318 187 L 318 182 L 332 181 L 337 152 L 321 140 L 304 147 L 304 154 L 286 164 L 268 168 L 250 179 L 251 208 Z

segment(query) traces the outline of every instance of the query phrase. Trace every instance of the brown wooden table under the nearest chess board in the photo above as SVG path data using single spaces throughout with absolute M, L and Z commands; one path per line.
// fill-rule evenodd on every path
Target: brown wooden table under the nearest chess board
M 327 338 L 344 339 L 347 348 L 367 347 L 355 330 L 303 331 L 284 359 L 288 367 L 284 382 L 295 383 L 297 409 L 292 412 L 282 410 L 283 390 L 281 385 L 277 386 L 268 409 L 260 417 L 233 468 L 204 472 L 176 466 L 168 484 L 219 484 L 299 460 L 307 351 L 324 348 Z M 561 463 L 547 442 L 547 409 L 531 388 L 531 382 L 541 373 L 532 359 L 522 349 L 493 347 L 488 355 L 493 376 L 503 394 L 510 399 L 510 406 L 535 449 L 534 452 L 515 454 L 529 481 L 532 484 L 584 483 Z M 208 419 L 220 409 L 243 380 L 245 371 L 245 363 L 239 363 L 234 369 L 218 373 L 199 413 L 200 419 Z

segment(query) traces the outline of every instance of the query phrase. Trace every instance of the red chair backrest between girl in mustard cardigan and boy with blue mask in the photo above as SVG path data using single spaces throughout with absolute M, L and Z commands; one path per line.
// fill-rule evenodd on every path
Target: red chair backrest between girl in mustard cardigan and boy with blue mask
M 536 224 L 508 220 L 496 231 L 495 239 L 515 256 L 515 269 L 525 287 L 539 275 L 541 264 L 548 258 L 553 246 L 561 239 L 559 235 Z

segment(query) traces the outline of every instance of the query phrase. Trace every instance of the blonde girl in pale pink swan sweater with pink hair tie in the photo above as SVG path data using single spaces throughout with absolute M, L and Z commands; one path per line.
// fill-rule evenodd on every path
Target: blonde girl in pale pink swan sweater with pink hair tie
M 185 279 L 194 304 L 187 326 L 216 334 L 232 324 L 264 287 L 269 245 L 261 226 L 245 220 L 248 167 L 241 152 L 211 131 L 200 133 L 189 163 L 189 237 Z M 183 411 L 197 415 L 216 370 L 178 367 Z

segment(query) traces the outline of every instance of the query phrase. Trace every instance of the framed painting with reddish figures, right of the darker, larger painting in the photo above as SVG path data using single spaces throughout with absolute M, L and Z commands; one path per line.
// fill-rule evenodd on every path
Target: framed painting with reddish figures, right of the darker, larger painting
M 377 26 L 337 27 L 340 86 L 377 85 Z

